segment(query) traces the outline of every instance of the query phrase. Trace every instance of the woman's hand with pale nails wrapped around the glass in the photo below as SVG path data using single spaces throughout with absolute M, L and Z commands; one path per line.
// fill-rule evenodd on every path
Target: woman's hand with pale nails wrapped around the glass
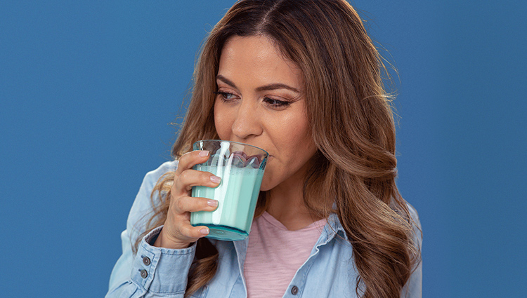
M 207 236 L 207 226 L 191 226 L 190 212 L 214 211 L 218 201 L 208 198 L 193 198 L 190 196 L 192 187 L 217 187 L 220 178 L 210 172 L 193 170 L 198 163 L 204 163 L 209 158 L 209 151 L 191 151 L 179 158 L 174 184 L 170 191 L 170 205 L 167 219 L 154 246 L 160 248 L 188 248 L 190 243 Z

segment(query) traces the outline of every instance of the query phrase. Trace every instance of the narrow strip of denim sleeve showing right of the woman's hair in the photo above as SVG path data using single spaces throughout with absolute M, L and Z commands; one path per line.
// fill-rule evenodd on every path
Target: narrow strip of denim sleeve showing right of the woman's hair
M 419 215 L 412 205 L 408 204 L 408 210 L 410 211 L 410 217 L 414 222 L 414 243 L 418 252 L 417 266 L 415 266 L 415 271 L 412 272 L 410 279 L 403 287 L 403 292 L 401 294 L 402 298 L 421 298 L 422 297 L 422 280 L 423 280 L 423 262 L 421 257 L 421 248 L 422 248 L 422 228 L 421 222 L 419 222 Z

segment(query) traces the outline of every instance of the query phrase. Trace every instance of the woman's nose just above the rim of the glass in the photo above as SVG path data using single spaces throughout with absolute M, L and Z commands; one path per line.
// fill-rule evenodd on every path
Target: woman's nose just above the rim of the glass
M 257 111 L 257 104 L 252 104 L 251 100 L 242 100 L 238 109 L 233 115 L 233 135 L 240 140 L 250 140 L 252 137 L 261 135 L 261 113 Z

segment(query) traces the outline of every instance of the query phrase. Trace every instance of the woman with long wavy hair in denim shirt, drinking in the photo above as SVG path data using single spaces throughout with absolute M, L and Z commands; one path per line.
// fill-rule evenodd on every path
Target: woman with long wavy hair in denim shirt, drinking
M 384 70 L 344 0 L 238 1 L 204 43 L 176 161 L 145 177 L 107 297 L 421 297 Z M 190 198 L 220 182 L 191 169 L 204 139 L 270 154 L 245 241 L 190 225 L 218 205 Z

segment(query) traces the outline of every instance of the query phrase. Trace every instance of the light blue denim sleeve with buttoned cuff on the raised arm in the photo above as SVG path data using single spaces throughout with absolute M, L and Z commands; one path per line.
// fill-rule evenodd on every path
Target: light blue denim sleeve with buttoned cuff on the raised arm
M 146 223 L 152 216 L 150 194 L 153 187 L 165 172 L 175 170 L 176 166 L 176 161 L 167 162 L 145 176 L 130 210 L 126 230 L 121 233 L 122 255 L 112 270 L 106 298 L 183 297 L 195 245 L 183 250 L 152 246 L 162 229 L 160 226 L 143 237 L 135 255 L 132 251 L 132 245 L 146 230 Z

